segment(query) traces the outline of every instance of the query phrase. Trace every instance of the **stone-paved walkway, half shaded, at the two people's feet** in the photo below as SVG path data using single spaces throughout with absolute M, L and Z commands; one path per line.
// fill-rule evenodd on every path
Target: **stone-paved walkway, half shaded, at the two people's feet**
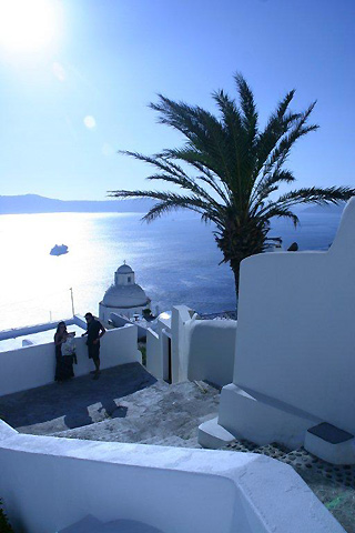
M 0 398 L 0 418 L 21 433 L 200 447 L 197 428 L 219 410 L 219 391 L 169 385 L 139 363 Z

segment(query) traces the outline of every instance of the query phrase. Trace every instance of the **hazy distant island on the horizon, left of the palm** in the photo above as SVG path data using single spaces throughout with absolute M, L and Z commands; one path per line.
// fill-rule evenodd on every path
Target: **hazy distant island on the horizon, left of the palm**
M 0 214 L 31 213 L 146 213 L 151 200 L 55 200 L 38 194 L 0 195 Z

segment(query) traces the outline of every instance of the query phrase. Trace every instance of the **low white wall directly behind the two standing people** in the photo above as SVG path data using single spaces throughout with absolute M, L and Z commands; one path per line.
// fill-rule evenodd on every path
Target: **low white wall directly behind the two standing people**
M 85 342 L 87 338 L 75 339 L 78 364 L 74 365 L 74 373 L 77 376 L 93 370 Z M 141 362 L 141 352 L 136 349 L 135 325 L 108 330 L 101 339 L 100 360 L 101 369 Z M 51 383 L 54 380 L 55 370 L 54 342 L 1 352 L 0 369 L 0 396 Z

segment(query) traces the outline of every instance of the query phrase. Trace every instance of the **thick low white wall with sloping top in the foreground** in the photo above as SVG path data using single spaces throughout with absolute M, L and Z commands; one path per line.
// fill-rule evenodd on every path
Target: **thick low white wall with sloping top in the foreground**
M 164 533 L 344 533 L 293 469 L 270 457 L 21 435 L 1 421 L 0 495 L 27 533 L 88 514 Z

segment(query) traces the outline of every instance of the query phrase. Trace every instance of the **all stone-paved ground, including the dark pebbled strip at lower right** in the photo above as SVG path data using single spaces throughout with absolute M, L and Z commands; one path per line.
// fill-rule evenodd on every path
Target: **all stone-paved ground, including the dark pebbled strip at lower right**
M 0 398 L 0 418 L 21 433 L 201 447 L 197 426 L 216 416 L 219 391 L 169 385 L 139 363 Z M 234 441 L 229 451 L 263 453 L 293 466 L 347 533 L 355 533 L 355 466 L 332 466 L 303 449 Z

